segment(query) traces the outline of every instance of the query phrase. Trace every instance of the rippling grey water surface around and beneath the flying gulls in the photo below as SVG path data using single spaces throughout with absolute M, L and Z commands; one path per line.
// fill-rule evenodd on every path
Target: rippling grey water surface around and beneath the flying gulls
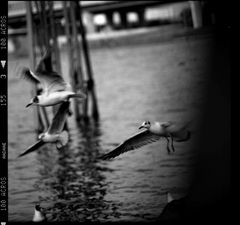
M 96 158 L 134 134 L 144 120 L 196 122 L 211 45 L 211 38 L 192 37 L 93 50 L 99 123 L 79 128 L 72 116 L 71 140 L 62 152 L 49 144 L 20 159 L 17 155 L 36 137 L 33 110 L 25 108 L 30 85 L 16 76 L 29 62 L 10 60 L 9 221 L 30 221 L 36 203 L 46 208 L 49 221 L 154 221 L 166 204 L 166 191 L 184 196 L 197 131 L 189 142 L 176 143 L 174 154 L 167 154 L 161 140 L 113 161 Z M 62 63 L 66 74 L 65 53 Z

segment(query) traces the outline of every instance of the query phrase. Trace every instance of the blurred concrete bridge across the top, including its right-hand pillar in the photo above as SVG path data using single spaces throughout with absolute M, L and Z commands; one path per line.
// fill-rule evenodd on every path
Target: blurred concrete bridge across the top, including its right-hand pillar
M 194 28 L 201 27 L 200 1 L 80 1 L 83 24 L 87 37 L 96 37 L 98 32 L 113 32 L 164 23 L 183 22 L 181 13 L 189 10 Z M 9 50 L 24 49 L 26 44 L 26 7 L 24 1 L 9 1 L 8 34 Z M 61 1 L 54 1 L 54 21 L 57 25 L 58 39 L 66 42 L 64 31 L 64 13 Z M 190 12 L 192 10 L 192 14 Z M 38 21 L 35 4 L 34 20 Z M 190 18 L 191 19 L 191 18 Z M 26 46 L 27 47 L 27 46 Z M 19 51 L 20 52 L 20 51 Z M 24 50 L 23 50 L 24 52 Z

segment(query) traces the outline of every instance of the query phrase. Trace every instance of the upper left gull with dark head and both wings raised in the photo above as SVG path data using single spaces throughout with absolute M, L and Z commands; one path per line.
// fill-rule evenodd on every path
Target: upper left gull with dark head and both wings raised
M 26 107 L 31 105 L 53 106 L 68 101 L 70 98 L 79 98 L 80 100 L 86 98 L 86 95 L 81 91 L 78 93 L 73 92 L 71 85 L 66 83 L 57 72 L 52 70 L 49 49 L 37 65 L 35 73 L 24 67 L 21 77 L 34 84 L 40 84 L 43 88 L 42 93 L 34 96 Z

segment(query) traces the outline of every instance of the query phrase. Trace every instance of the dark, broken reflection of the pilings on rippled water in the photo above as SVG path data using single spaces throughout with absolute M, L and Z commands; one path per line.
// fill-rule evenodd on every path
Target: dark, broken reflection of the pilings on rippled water
M 40 204 L 48 208 L 49 220 L 82 222 L 118 217 L 118 206 L 104 200 L 108 184 L 102 172 L 110 169 L 97 160 L 100 125 L 88 124 L 70 133 L 69 144 L 59 154 L 55 149 L 38 154 L 42 167 L 35 188 L 40 191 Z

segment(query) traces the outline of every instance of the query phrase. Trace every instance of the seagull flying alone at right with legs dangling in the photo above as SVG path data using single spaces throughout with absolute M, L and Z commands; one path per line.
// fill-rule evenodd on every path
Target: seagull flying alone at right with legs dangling
M 167 140 L 167 151 L 171 152 L 169 148 L 169 138 L 171 140 L 172 151 L 175 151 L 173 141 L 183 142 L 189 140 L 191 133 L 187 129 L 188 124 L 180 124 L 176 122 L 153 122 L 144 121 L 139 129 L 145 128 L 143 131 L 131 136 L 124 142 L 122 142 L 117 148 L 111 152 L 103 155 L 100 159 L 112 159 L 116 156 L 128 152 L 137 148 L 140 148 L 146 144 L 158 141 L 161 137 Z

